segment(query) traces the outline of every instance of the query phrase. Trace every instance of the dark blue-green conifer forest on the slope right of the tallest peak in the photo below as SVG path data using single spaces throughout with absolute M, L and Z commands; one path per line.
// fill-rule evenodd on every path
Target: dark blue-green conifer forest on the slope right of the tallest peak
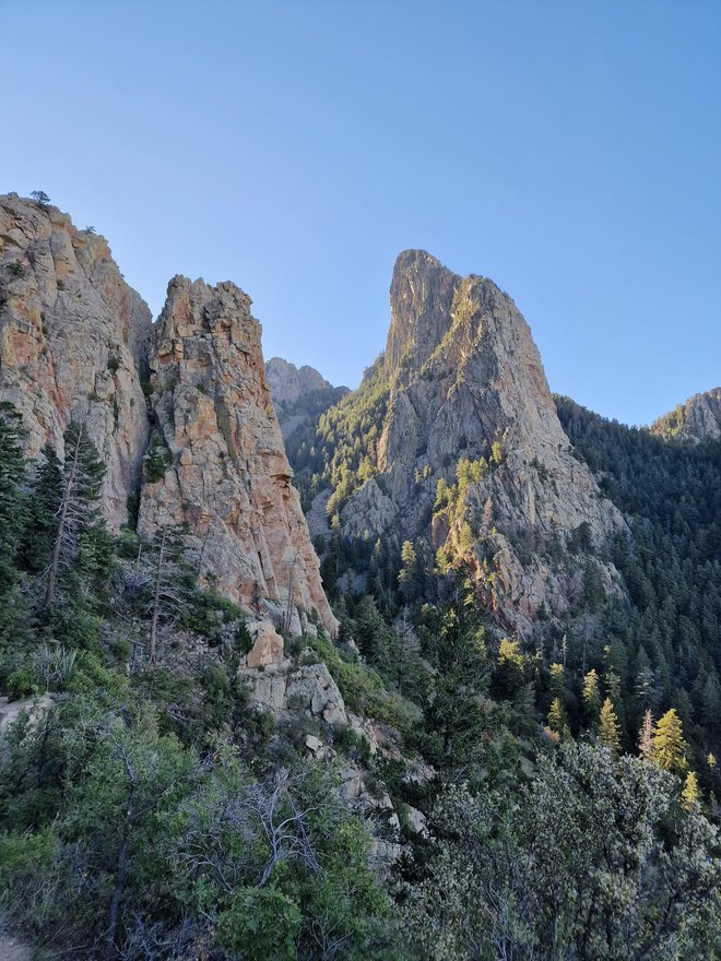
M 718 791 L 721 737 L 721 444 L 683 444 L 604 420 L 559 399 L 576 451 L 627 518 L 613 560 L 631 605 L 603 627 L 631 727 L 643 712 L 674 707 L 694 763 Z

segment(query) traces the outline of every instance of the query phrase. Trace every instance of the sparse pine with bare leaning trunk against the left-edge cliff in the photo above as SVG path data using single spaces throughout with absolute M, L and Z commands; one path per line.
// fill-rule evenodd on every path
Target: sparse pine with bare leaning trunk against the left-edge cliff
M 66 456 L 61 497 L 50 557 L 45 604 L 55 601 L 60 567 L 69 567 L 78 556 L 81 538 L 101 523 L 98 500 L 105 477 L 105 464 L 87 436 L 85 426 L 71 424 L 64 432 Z

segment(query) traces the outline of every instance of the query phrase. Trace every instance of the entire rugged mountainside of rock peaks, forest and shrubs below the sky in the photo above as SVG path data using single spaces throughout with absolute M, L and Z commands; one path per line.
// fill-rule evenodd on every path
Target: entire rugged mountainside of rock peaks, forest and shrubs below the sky
M 250 306 L 176 276 L 152 323 L 0 199 L 7 942 L 713 958 L 718 441 L 554 400 L 423 251 L 354 392 L 264 365 Z

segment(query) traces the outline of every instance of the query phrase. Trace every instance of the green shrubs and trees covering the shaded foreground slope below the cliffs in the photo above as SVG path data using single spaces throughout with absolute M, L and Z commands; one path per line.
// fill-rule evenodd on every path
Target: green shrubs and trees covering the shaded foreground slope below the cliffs
M 21 442 L 5 405 L 0 685 L 26 700 L 0 737 L 0 912 L 45 958 L 714 957 L 712 769 L 672 685 L 628 700 L 635 613 L 579 673 L 499 636 L 462 570 L 335 532 L 368 593 L 339 578 L 338 642 L 286 651 L 375 743 L 286 723 L 253 708 L 243 613 L 198 589 L 184 532 L 108 534 L 82 425 L 62 461 Z M 348 766 L 400 827 L 343 800 Z

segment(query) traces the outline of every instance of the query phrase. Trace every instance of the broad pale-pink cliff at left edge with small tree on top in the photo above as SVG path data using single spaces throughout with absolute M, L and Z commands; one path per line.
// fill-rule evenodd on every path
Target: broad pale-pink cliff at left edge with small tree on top
M 141 378 L 151 313 L 123 281 L 107 241 L 67 214 L 0 197 L 0 400 L 23 415 L 27 453 L 62 451 L 83 420 L 107 473 L 103 512 L 127 518 L 147 443 Z

